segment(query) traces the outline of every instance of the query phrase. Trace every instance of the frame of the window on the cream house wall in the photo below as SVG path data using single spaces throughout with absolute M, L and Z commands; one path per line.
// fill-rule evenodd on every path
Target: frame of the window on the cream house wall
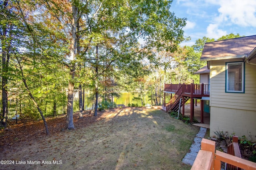
M 228 66 L 229 65 L 234 65 L 234 64 L 239 64 L 239 65 L 242 65 L 242 68 L 241 68 L 241 74 L 242 74 L 242 77 L 241 77 L 241 80 L 239 79 L 239 77 L 238 77 L 238 83 L 240 82 L 241 83 L 241 85 L 242 85 L 242 87 L 241 87 L 241 91 L 239 91 L 239 90 L 228 90 L 228 87 L 229 87 L 229 77 L 228 77 Z M 225 82 L 225 84 L 226 84 L 226 92 L 227 93 L 244 93 L 244 62 L 243 61 L 239 61 L 239 62 L 228 62 L 228 63 L 226 63 L 226 82 Z M 239 87 L 239 86 L 238 86 Z

